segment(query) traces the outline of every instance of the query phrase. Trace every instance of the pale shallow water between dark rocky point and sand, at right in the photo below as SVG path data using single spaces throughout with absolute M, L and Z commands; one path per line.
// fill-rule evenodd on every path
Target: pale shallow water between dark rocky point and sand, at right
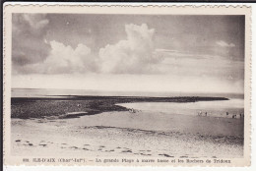
M 200 112 L 202 112 L 202 116 L 206 116 L 207 112 L 207 116 L 227 118 L 232 118 L 232 115 L 236 115 L 236 118 L 239 118 L 240 114 L 244 114 L 244 100 L 239 98 L 220 101 L 199 101 L 188 103 L 139 102 L 121 103 L 117 105 L 130 109 L 161 112 L 167 114 L 198 115 Z M 226 112 L 228 112 L 228 115 L 226 115 Z

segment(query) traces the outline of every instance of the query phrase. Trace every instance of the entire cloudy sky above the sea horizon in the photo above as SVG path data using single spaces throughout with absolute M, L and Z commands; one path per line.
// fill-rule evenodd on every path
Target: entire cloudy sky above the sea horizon
M 13 14 L 12 87 L 235 92 L 244 17 Z

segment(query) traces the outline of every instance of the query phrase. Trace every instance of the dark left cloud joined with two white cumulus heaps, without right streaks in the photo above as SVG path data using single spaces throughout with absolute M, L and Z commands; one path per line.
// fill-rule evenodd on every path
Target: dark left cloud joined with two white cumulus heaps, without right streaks
M 155 29 L 125 25 L 126 39 L 107 44 L 93 55 L 84 44 L 71 47 L 58 41 L 45 39 L 49 21 L 45 15 L 15 15 L 13 22 L 14 73 L 68 74 L 158 73 L 162 61 L 154 45 Z M 21 40 L 25 43 L 21 43 Z

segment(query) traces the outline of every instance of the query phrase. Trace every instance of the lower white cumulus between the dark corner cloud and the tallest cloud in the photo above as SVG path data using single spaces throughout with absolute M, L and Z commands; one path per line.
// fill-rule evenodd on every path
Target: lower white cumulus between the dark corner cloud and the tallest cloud
M 84 44 L 76 48 L 64 45 L 58 41 L 50 41 L 51 51 L 41 63 L 35 63 L 21 68 L 22 73 L 39 74 L 70 74 L 96 72 L 96 58 L 91 49 Z

